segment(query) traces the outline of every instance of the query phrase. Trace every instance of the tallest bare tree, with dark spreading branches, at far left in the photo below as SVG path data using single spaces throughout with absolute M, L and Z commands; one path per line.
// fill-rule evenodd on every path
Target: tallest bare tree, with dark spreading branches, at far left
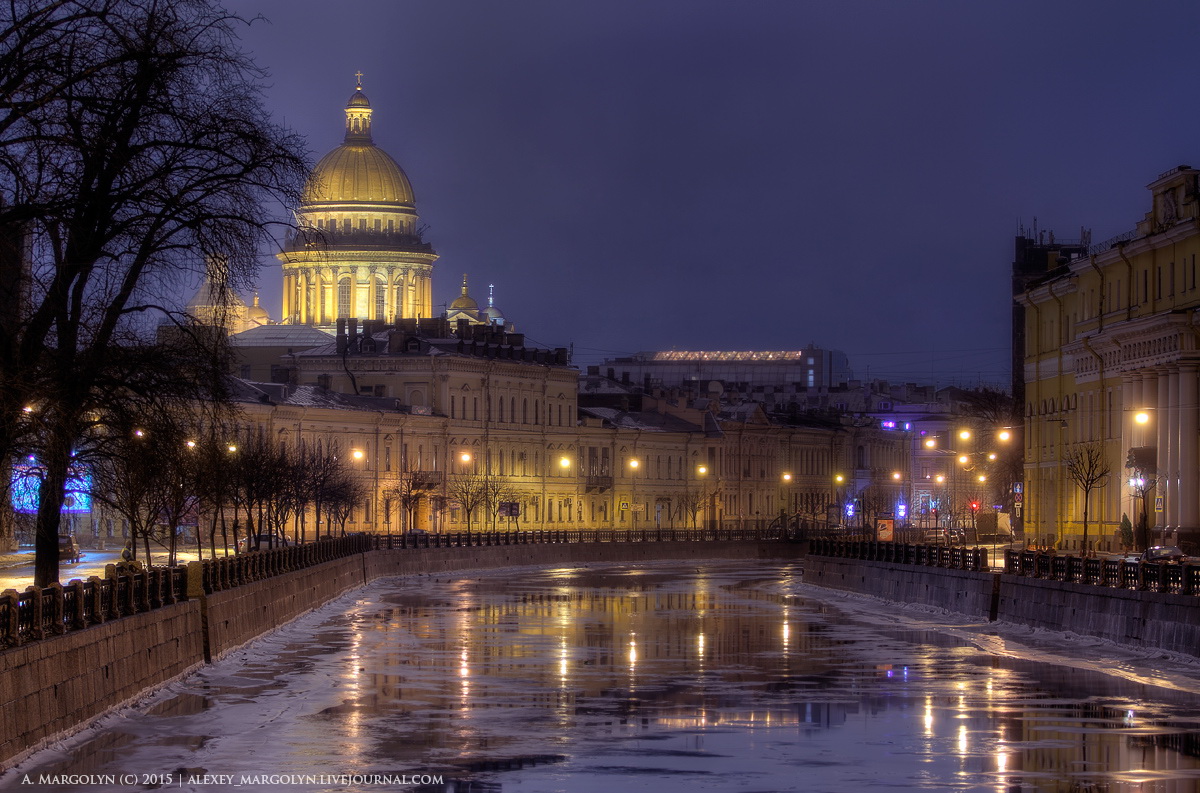
M 272 125 L 262 74 L 236 48 L 242 20 L 211 0 L 11 0 L 0 11 L 0 229 L 24 256 L 5 280 L 0 459 L 37 450 L 35 583 L 58 578 L 58 524 L 73 456 L 124 398 L 120 360 L 208 270 L 245 286 L 293 203 L 300 140 Z M 185 334 L 217 349 L 220 335 Z M 196 372 L 210 396 L 220 361 Z M 36 411 L 28 420 L 24 408 Z

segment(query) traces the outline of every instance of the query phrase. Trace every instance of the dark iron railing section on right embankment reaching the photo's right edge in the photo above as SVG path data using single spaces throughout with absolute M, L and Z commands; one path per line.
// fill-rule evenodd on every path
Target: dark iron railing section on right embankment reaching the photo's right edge
M 1200 565 L 1084 559 L 1034 551 L 1004 552 L 1004 572 L 1112 589 L 1200 595 Z

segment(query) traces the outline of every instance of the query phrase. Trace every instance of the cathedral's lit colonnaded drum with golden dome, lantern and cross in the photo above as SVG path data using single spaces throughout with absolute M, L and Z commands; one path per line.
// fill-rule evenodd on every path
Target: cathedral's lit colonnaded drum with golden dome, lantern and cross
M 432 316 L 437 253 L 396 161 L 374 145 L 362 86 L 346 106 L 346 138 L 312 172 L 296 233 L 278 254 L 288 324 L 332 330 L 338 319 Z

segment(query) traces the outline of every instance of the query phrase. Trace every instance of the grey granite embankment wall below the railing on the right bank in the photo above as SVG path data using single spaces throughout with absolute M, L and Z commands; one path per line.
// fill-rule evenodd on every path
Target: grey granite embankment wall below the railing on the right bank
M 968 617 L 1200 655 L 1200 597 L 1192 595 L 814 555 L 805 559 L 804 579 Z

